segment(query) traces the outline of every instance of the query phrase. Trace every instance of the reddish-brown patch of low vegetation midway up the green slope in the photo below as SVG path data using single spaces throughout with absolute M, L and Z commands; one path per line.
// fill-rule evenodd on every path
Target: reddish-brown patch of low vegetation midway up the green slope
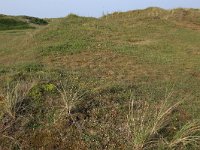
M 151 67 L 138 64 L 134 56 L 111 51 L 85 51 L 74 55 L 48 56 L 45 64 L 83 70 L 90 77 L 131 80 L 138 76 L 151 75 Z

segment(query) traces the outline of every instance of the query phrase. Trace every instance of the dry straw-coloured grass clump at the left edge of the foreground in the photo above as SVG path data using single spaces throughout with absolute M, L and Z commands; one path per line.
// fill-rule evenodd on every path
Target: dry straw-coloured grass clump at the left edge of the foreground
M 25 108 L 25 105 L 23 105 L 23 101 L 34 85 L 35 82 L 18 81 L 8 83 L 5 90 L 2 91 L 0 141 L 3 145 L 7 145 L 7 149 L 21 149 L 20 142 L 15 137 L 14 131 L 19 130 L 17 128 L 19 122 L 27 119 L 21 116 L 20 112 L 27 109 Z

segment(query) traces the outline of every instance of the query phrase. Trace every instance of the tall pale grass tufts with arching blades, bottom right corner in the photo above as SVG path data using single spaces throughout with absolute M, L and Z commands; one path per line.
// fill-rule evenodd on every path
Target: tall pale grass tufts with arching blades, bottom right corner
M 172 127 L 166 133 L 173 124 L 174 112 L 183 102 L 173 103 L 170 96 L 159 105 L 131 101 L 127 119 L 134 149 L 183 149 L 199 144 L 199 121 L 188 122 L 180 128 Z

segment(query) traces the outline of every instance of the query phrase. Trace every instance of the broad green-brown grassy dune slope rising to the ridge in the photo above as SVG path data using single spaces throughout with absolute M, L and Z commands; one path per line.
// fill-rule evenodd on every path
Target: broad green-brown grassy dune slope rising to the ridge
M 148 8 L 99 19 L 69 15 L 48 21 L 48 26 L 36 29 L 0 31 L 1 88 L 5 81 L 37 80 L 44 88 L 67 80 L 67 88 L 75 86 L 87 93 L 77 100 L 73 112 L 81 131 L 76 125 L 65 129 L 60 123 L 56 127 L 65 129 L 71 140 L 55 140 L 58 133 L 52 131 L 53 125 L 38 113 L 35 122 L 29 118 L 32 122 L 23 125 L 25 133 L 15 131 L 13 137 L 24 147 L 30 145 L 21 136 L 36 149 L 45 146 L 40 140 L 46 142 L 46 148 L 60 143 L 60 148 L 68 145 L 71 149 L 78 145 L 83 149 L 128 149 L 131 141 L 120 131 L 132 94 L 135 100 L 159 102 L 173 91 L 174 101 L 187 97 L 177 110 L 182 114 L 180 122 L 200 118 L 199 10 Z M 58 94 L 52 97 L 57 99 Z M 40 99 L 51 101 L 44 91 Z M 49 104 L 41 103 L 38 109 L 51 118 L 53 108 L 46 110 L 43 105 Z M 28 132 L 40 135 L 40 140 Z

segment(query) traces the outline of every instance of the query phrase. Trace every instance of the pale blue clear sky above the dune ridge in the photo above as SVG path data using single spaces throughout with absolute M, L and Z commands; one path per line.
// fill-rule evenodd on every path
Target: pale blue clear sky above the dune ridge
M 200 0 L 0 0 L 0 14 L 40 18 L 64 17 L 70 13 L 100 17 L 147 7 L 200 8 Z

